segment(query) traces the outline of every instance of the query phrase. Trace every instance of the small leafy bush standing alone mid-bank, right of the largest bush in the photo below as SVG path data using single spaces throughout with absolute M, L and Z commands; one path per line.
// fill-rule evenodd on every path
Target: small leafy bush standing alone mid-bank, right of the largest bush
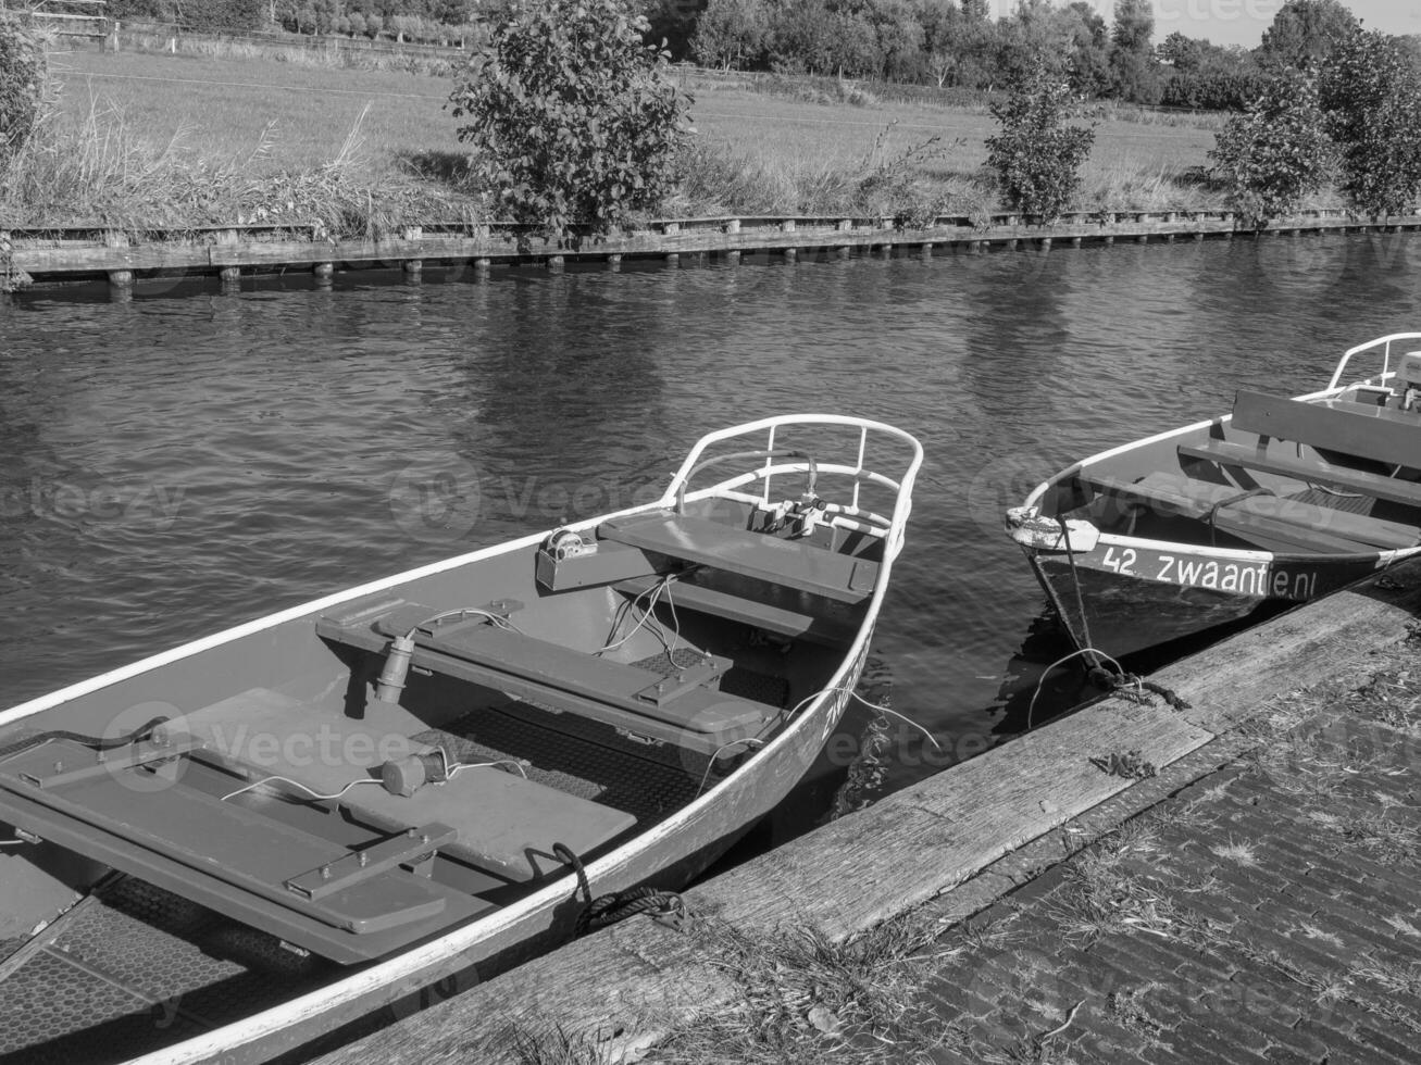
M 988 166 L 1007 202 L 1042 224 L 1060 217 L 1080 187 L 1093 126 L 1069 126 L 1070 85 L 1044 67 L 1025 74 L 1005 104 L 992 105 L 1002 132 L 986 139 Z

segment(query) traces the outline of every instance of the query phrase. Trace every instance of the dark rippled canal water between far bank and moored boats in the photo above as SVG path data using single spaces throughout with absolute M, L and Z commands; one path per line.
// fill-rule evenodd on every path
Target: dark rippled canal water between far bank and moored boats
M 898 787 L 1022 731 L 1063 653 L 1003 507 L 1236 388 L 1320 388 L 1421 328 L 1418 281 L 1403 234 L 30 293 L 0 305 L 0 706 L 845 412 L 928 456 L 875 670 L 941 750 L 892 721 L 868 787 Z M 1077 693 L 1052 674 L 1036 720 Z

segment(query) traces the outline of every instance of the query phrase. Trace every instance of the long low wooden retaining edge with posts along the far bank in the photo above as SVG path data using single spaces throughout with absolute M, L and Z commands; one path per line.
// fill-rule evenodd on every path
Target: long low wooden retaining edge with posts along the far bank
M 0 285 L 107 280 L 115 295 L 142 278 L 213 277 L 237 285 L 242 277 L 310 273 L 330 283 L 337 271 L 395 270 L 419 278 L 425 270 L 600 264 L 628 260 L 676 263 L 816 261 L 851 256 L 982 254 L 989 250 L 1083 247 L 1087 244 L 1229 240 L 1319 233 L 1400 233 L 1421 229 L 1421 216 L 1368 223 L 1337 210 L 1314 210 L 1242 229 L 1232 212 L 1097 212 L 1063 216 L 1052 226 L 1020 214 L 944 216 L 926 226 L 892 217 L 713 217 L 648 223 L 645 229 L 560 248 L 527 226 L 409 226 L 362 239 L 333 237 L 320 226 L 213 226 L 182 231 L 117 229 L 0 230 Z

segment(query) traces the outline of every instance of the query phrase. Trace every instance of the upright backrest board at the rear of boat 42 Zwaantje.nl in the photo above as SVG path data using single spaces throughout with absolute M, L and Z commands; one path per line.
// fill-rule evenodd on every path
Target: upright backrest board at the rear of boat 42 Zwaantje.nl
M 1391 466 L 1421 464 L 1421 413 L 1350 402 L 1304 403 L 1239 389 L 1232 425 L 1259 436 Z

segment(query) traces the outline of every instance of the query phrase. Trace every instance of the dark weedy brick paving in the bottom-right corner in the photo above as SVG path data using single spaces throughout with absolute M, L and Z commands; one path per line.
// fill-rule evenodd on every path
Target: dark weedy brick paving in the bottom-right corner
M 1364 841 L 1310 816 L 1363 816 L 1381 808 L 1376 792 L 1414 795 L 1415 781 L 1383 777 L 1383 765 L 1410 767 L 1410 761 L 1367 754 L 1350 724 L 1337 727 L 1346 724 L 1341 714 L 1353 711 L 1336 707 L 1329 713 L 1310 730 L 1282 738 L 1295 743 L 1295 761 L 1285 758 L 1268 771 L 1238 764 L 1209 772 L 1208 758 L 1201 758 L 1189 763 L 1196 768 L 1188 772 L 1204 775 L 1169 785 L 1178 788 L 1174 795 L 1130 788 L 1077 819 L 1094 832 L 1108 828 L 1120 811 L 1138 809 L 1142 797 L 1157 797 L 1157 848 L 1121 856 L 1118 870 L 1138 878 L 1162 913 L 1177 907 L 1202 919 L 1198 927 L 1179 932 L 1185 939 L 1135 929 L 1104 932 L 1084 949 L 1063 944 L 1061 922 L 1052 910 L 1071 879 L 1070 863 L 1081 861 L 1080 855 L 1059 859 L 1069 832 L 1054 832 L 1015 865 L 1003 865 L 1022 876 L 1037 868 L 1033 862 L 1059 861 L 1005 905 L 998 902 L 973 917 L 976 927 L 1010 919 L 1009 950 L 986 944 L 968 950 L 946 963 L 914 1004 L 928 1020 L 961 1018 L 968 1030 L 969 1044 L 945 1048 L 953 1056 L 944 1059 L 1025 1058 L 1033 1052 L 1032 1041 L 1060 1025 L 1081 1001 L 1067 1030 L 1047 1041 L 1044 1061 L 1053 1061 L 1054 1051 L 1080 1062 L 1150 1065 L 1421 1062 L 1415 1032 L 1381 1015 L 1404 1011 L 1415 1017 L 1421 1003 L 1403 1004 L 1390 981 L 1358 971 L 1368 958 L 1398 967 L 1421 958 L 1421 937 L 1408 937 L 1385 920 L 1411 920 L 1421 929 L 1421 855 L 1383 862 Z M 1358 772 L 1339 778 L 1330 795 L 1292 794 L 1289 781 L 1307 772 L 1309 750 L 1340 750 L 1339 738 L 1350 744 Z M 1249 746 L 1231 743 L 1233 750 Z M 1209 757 L 1218 758 L 1218 750 Z M 1187 780 L 1185 763 L 1169 767 L 1172 780 Z M 1162 787 L 1158 780 L 1151 784 Z M 1258 865 L 1229 856 L 1231 843 L 1246 845 Z M 1110 839 L 1097 851 L 1108 846 Z M 985 899 L 978 890 L 972 897 Z M 941 900 L 935 907 L 942 912 Z M 1370 1011 L 1323 995 L 1334 981 Z

